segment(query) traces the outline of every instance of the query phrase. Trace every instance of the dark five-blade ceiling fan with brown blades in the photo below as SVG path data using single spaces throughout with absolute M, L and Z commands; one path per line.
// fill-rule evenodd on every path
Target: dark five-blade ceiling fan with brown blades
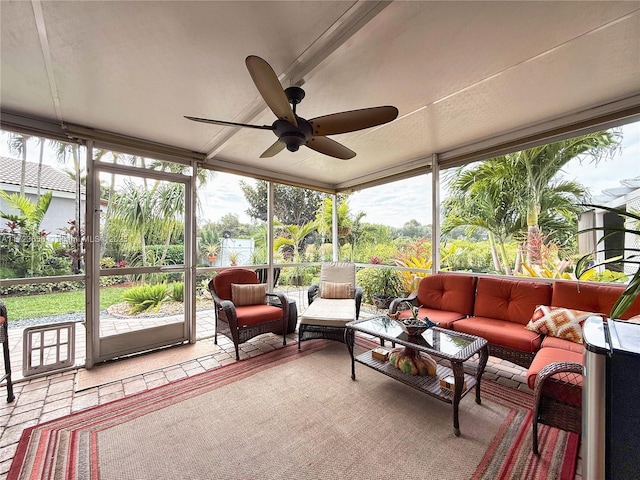
M 250 55 L 246 58 L 245 63 L 260 95 L 278 117 L 272 125 L 250 125 L 188 116 L 185 118 L 215 125 L 271 130 L 278 137 L 278 140 L 267 148 L 260 155 L 260 158 L 273 157 L 285 147 L 290 152 L 295 152 L 302 145 L 306 145 L 316 152 L 348 160 L 355 157 L 356 153 L 335 140 L 327 138 L 326 135 L 337 135 L 375 127 L 395 120 L 398 116 L 396 107 L 384 106 L 333 113 L 305 120 L 296 114 L 296 105 L 302 101 L 305 95 L 302 88 L 291 86 L 283 89 L 271 65 L 260 57 Z

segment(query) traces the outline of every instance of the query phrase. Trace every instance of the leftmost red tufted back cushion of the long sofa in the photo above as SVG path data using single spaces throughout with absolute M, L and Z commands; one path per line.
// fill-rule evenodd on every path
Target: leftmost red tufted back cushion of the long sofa
M 418 305 L 434 310 L 459 312 L 463 317 L 472 315 L 475 287 L 476 278 L 473 275 L 430 275 L 418 284 Z

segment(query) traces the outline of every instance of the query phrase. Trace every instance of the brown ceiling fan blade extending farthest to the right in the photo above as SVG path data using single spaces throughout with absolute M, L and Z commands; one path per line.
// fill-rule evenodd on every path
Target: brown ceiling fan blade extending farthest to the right
M 382 125 L 397 117 L 396 107 L 371 107 L 312 118 L 309 123 L 314 135 L 336 135 Z

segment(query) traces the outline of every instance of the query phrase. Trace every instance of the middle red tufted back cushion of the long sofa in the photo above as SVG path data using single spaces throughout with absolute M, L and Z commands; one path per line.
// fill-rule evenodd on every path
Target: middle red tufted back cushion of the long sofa
M 550 302 L 551 285 L 548 283 L 481 277 L 474 315 L 517 323 L 524 330 L 536 307 Z

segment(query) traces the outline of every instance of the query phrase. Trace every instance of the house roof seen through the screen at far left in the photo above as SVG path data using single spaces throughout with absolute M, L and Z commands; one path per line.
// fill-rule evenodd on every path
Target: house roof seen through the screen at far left
M 21 172 L 22 160 L 0 156 L 0 183 L 20 185 Z M 37 163 L 27 162 L 24 186 L 37 188 Z M 40 187 L 44 190 L 74 193 L 76 191 L 76 182 L 66 173 L 43 164 L 40 175 Z M 82 193 L 84 193 L 84 187 L 82 187 Z

